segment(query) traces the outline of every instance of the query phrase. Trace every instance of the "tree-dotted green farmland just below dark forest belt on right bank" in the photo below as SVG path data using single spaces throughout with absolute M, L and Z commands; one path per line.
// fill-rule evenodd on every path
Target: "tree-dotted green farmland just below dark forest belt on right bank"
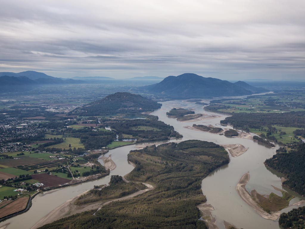
M 274 136 L 276 140 L 278 140 L 279 142 L 288 144 L 293 141 L 297 141 L 297 139 L 294 137 L 293 131 L 300 128 L 284 127 L 284 126 L 276 126 L 276 125 L 272 127 L 275 127 L 278 133 L 272 133 L 271 136 Z M 268 129 L 268 128 L 264 127 L 264 129 Z M 267 131 L 261 131 L 260 129 L 249 129 L 249 131 L 257 135 L 260 135 L 261 133 L 264 133 L 266 135 L 267 133 Z M 286 132 L 286 134 L 280 135 L 280 132 Z

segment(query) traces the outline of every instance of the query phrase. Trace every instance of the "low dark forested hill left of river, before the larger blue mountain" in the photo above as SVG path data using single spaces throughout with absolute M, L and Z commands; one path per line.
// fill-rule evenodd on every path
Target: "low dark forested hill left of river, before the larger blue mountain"
M 101 100 L 94 101 L 83 107 L 79 107 L 70 112 L 70 115 L 115 115 L 115 114 L 138 114 L 144 111 L 159 109 L 161 104 L 127 92 L 117 92 L 106 96 Z

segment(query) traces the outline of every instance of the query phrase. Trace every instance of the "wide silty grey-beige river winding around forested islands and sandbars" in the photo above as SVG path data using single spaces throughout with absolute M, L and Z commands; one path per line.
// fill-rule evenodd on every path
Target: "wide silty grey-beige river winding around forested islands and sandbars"
M 242 96 L 239 96 L 238 98 L 241 97 Z M 209 100 L 206 102 L 208 101 Z M 231 161 L 228 165 L 224 165 L 215 170 L 202 181 L 202 191 L 203 194 L 206 195 L 207 203 L 211 204 L 215 209 L 211 211 L 213 217 L 216 219 L 215 224 L 220 229 L 224 229 L 223 220 L 225 220 L 239 228 L 244 229 L 278 229 L 279 226 L 277 221 L 267 220 L 258 215 L 240 198 L 235 190 L 235 187 L 242 175 L 249 172 L 250 180 L 246 185 L 246 189 L 249 192 L 256 189 L 260 194 L 270 194 L 271 192 L 274 192 L 280 196 L 282 195 L 281 192 L 274 190 L 274 188 L 271 186 L 273 185 L 275 187 L 282 188 L 280 179 L 281 175 L 274 171 L 270 171 L 270 169 L 267 169 L 263 163 L 267 158 L 271 158 L 272 155 L 275 154 L 275 150 L 278 148 L 278 146 L 272 149 L 264 147 L 263 145 L 249 139 L 228 138 L 224 135 L 187 129 L 185 128 L 186 126 L 192 126 L 194 123 L 197 125 L 203 124 L 221 127 L 219 124 L 220 120 L 223 120 L 228 115 L 204 111 L 203 105 L 189 103 L 184 100 L 166 101 L 162 102 L 162 104 L 161 109 L 158 109 L 151 114 L 159 116 L 159 120 L 174 126 L 175 130 L 183 135 L 182 139 L 170 140 L 171 142 L 198 139 L 211 141 L 216 144 L 242 144 L 246 148 L 249 147 L 248 151 L 239 157 L 231 157 L 230 155 Z M 168 118 L 165 114 L 174 107 L 191 108 L 194 109 L 196 114 L 217 115 L 217 117 L 192 122 L 179 122 L 176 119 Z M 249 122 L 251 122 L 251 120 L 249 120 Z M 170 141 L 156 142 L 155 144 Z M 127 154 L 130 150 L 137 149 L 143 145 L 145 144 L 133 144 L 109 150 L 105 156 L 108 157 L 109 154 L 111 154 L 112 160 L 117 165 L 116 169 L 110 172 L 110 175 L 124 176 L 125 174 L 129 173 L 133 169 L 133 166 L 128 163 Z M 100 162 L 103 163 L 101 159 Z M 110 181 L 110 175 L 99 180 L 40 193 L 32 200 L 32 206 L 29 211 L 2 222 L 0 224 L 0 229 L 2 229 L 2 226 L 8 223 L 9 225 L 6 227 L 8 229 L 30 229 L 42 217 L 67 200 L 93 188 L 94 185 L 108 184 Z M 293 193 L 293 195 L 296 196 L 296 198 L 293 198 L 290 201 L 290 205 L 303 199 L 300 195 L 290 190 L 285 190 Z M 296 207 L 298 206 L 290 206 L 282 211 L 288 212 L 292 208 Z

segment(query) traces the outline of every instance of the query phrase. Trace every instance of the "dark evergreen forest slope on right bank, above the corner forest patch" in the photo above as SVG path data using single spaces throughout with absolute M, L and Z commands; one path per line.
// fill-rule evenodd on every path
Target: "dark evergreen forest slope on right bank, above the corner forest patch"
M 287 177 L 283 185 L 305 195 L 305 143 L 299 145 L 296 150 L 290 150 L 289 153 L 273 155 L 265 161 L 265 164 Z

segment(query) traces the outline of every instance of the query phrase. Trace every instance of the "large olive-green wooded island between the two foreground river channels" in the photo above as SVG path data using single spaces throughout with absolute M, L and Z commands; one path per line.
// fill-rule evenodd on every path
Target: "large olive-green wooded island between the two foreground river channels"
M 154 184 L 135 198 L 112 202 L 95 213 L 77 214 L 47 224 L 55 228 L 201 228 L 207 229 L 197 205 L 206 201 L 201 182 L 214 169 L 229 163 L 225 149 L 212 142 L 188 140 L 131 151 L 136 164 L 128 180 Z

